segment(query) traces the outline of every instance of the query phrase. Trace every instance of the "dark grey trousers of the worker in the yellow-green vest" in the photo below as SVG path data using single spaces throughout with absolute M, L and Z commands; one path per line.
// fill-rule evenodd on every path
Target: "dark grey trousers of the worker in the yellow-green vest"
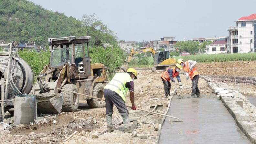
M 112 116 L 113 104 L 115 104 L 121 116 L 129 116 L 129 112 L 123 99 L 114 91 L 104 89 L 104 97 L 106 100 L 106 115 Z

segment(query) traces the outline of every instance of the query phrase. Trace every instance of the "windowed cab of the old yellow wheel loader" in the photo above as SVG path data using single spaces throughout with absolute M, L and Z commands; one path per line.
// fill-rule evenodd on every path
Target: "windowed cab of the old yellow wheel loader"
M 50 67 L 61 69 L 65 64 L 74 64 L 80 74 L 91 76 L 89 39 L 90 36 L 49 38 L 49 49 L 51 50 Z M 81 64 L 81 68 L 79 64 Z

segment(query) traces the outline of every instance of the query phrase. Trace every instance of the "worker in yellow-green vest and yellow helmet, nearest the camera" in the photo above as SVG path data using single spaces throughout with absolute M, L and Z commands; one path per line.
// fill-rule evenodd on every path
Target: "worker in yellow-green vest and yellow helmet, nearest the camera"
M 133 129 L 130 124 L 129 112 L 125 105 L 125 96 L 129 89 L 132 109 L 136 110 L 134 104 L 134 83 L 137 79 L 137 72 L 133 68 L 129 68 L 126 73 L 116 73 L 112 80 L 104 87 L 104 97 L 106 100 L 106 119 L 108 132 L 112 132 L 112 114 L 113 104 L 118 109 L 123 118 L 125 132 L 132 133 Z

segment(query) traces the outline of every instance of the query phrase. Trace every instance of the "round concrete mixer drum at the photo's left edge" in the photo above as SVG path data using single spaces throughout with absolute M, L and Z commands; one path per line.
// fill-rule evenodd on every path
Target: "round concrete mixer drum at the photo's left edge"
M 8 58 L 9 56 L 0 56 L 0 77 L 4 77 L 6 80 L 8 73 Z M 12 58 L 12 67 L 15 67 L 12 72 L 18 73 L 21 75 L 20 79 L 15 79 L 16 87 L 23 94 L 29 94 L 34 82 L 34 76 L 31 67 L 20 57 Z M 9 87 L 8 98 L 11 98 L 13 95 L 18 94 L 16 91 L 11 90 Z

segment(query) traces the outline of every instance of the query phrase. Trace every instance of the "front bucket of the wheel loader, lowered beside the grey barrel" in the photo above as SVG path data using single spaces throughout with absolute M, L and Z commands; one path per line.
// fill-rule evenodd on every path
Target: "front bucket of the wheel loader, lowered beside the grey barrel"
M 61 93 L 36 94 L 38 114 L 57 114 L 62 109 Z

